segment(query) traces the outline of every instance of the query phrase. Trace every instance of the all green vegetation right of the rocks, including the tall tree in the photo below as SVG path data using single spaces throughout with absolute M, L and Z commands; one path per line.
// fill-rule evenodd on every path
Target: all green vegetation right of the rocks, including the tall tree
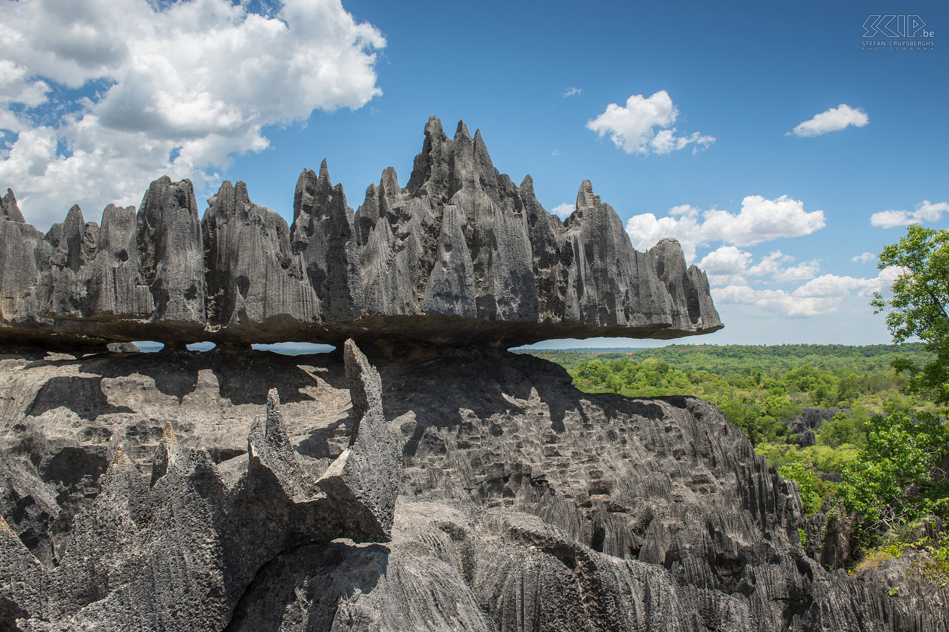
M 715 403 L 758 455 L 797 483 L 810 527 L 820 525 L 811 543 L 801 529 L 801 544 L 823 564 L 853 571 L 909 552 L 914 568 L 945 586 L 949 231 L 910 225 L 881 251 L 878 268 L 899 270 L 870 302 L 894 344 L 530 353 L 563 365 L 586 392 Z M 831 538 L 846 542 L 832 547 L 843 556 L 824 555 Z

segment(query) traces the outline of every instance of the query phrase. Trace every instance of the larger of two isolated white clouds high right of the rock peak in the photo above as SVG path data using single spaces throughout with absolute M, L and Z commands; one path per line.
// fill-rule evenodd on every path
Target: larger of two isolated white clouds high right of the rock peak
M 676 136 L 677 129 L 672 124 L 678 118 L 679 109 L 669 94 L 661 90 L 648 99 L 634 94 L 626 100 L 625 107 L 610 103 L 603 114 L 586 121 L 586 127 L 600 138 L 609 134 L 613 144 L 627 154 L 669 154 L 690 144 L 696 153 L 699 147 L 707 149 L 716 141 L 715 137 L 702 136 L 698 132 Z M 657 131 L 657 128 L 661 129 Z

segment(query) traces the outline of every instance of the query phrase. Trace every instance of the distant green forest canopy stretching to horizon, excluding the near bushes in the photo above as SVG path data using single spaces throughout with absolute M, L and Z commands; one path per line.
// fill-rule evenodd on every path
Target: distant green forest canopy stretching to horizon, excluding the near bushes
M 905 393 L 909 378 L 891 362 L 925 363 L 934 354 L 921 343 L 847 346 L 784 344 L 726 346 L 672 344 L 653 349 L 532 351 L 564 366 L 577 388 L 627 397 L 691 395 L 717 404 L 744 430 L 755 451 L 777 466 L 801 463 L 813 474 L 844 472 L 865 446 L 873 415 L 935 410 Z M 849 408 L 824 423 L 816 445 L 801 447 L 787 422 L 805 406 Z M 835 491 L 815 475 L 822 498 Z M 810 497 L 811 508 L 816 502 Z

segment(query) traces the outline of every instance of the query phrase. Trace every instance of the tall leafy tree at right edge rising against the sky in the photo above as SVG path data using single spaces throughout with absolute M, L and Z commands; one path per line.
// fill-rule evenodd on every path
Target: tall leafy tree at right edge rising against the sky
M 880 270 L 902 270 L 893 281 L 892 298 L 875 292 L 874 313 L 886 311 L 886 325 L 893 342 L 919 338 L 936 360 L 922 368 L 905 359 L 893 367 L 910 374 L 909 389 L 937 403 L 949 403 L 949 231 L 913 224 L 899 243 L 880 253 Z

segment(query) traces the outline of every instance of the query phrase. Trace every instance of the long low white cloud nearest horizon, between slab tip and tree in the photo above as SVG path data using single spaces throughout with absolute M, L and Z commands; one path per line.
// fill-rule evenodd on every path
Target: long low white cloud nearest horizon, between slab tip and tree
M 712 297 L 719 305 L 753 306 L 781 316 L 806 318 L 837 311 L 854 291 L 857 296 L 869 298 L 873 292 L 891 286 L 900 273 L 901 269 L 891 267 L 881 270 L 873 278 L 825 274 L 793 291 L 754 289 L 736 284 L 712 288 Z

